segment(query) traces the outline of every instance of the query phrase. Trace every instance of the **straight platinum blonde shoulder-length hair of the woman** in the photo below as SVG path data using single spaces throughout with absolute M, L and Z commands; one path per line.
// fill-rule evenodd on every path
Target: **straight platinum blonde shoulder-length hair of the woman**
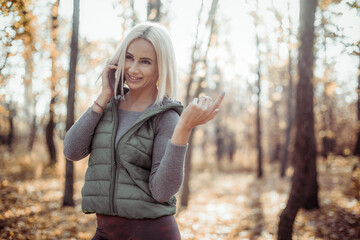
M 175 52 L 170 35 L 163 26 L 152 22 L 140 23 L 132 28 L 125 36 L 115 55 L 107 63 L 118 66 L 115 76 L 112 76 L 112 78 L 115 78 L 114 84 L 111 84 L 113 86 L 114 96 L 118 96 L 120 91 L 121 97 L 124 97 L 123 86 L 126 51 L 130 43 L 138 38 L 149 41 L 156 52 L 159 78 L 157 83 L 158 94 L 155 103 L 161 104 L 164 97 L 176 99 L 178 75 Z M 112 81 L 112 79 L 110 79 L 110 81 Z

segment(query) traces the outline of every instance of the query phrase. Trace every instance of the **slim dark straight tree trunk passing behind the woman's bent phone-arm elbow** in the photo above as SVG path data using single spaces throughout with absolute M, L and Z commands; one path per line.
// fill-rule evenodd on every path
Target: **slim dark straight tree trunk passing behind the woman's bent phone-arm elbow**
M 77 55 L 78 55 L 79 13 L 80 13 L 79 2 L 80 0 L 74 0 L 66 131 L 68 131 L 70 127 L 74 124 L 75 75 L 76 75 L 76 64 L 77 64 Z M 75 205 L 73 194 L 74 194 L 74 165 L 72 161 L 66 159 L 65 193 L 64 193 L 63 206 Z

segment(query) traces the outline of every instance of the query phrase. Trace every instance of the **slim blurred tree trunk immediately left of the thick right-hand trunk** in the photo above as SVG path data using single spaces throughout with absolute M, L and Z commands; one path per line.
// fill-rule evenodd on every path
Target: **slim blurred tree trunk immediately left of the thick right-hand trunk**
M 288 10 L 290 12 L 290 4 L 288 3 Z M 289 145 L 290 145 L 290 138 L 291 138 L 291 129 L 293 126 L 293 106 L 292 106 L 292 95 L 293 95 L 293 75 L 292 75 L 292 56 L 291 56 L 291 35 L 292 35 L 292 22 L 290 14 L 288 15 L 289 19 L 289 39 L 288 39 L 288 45 L 289 45 L 289 65 L 288 65 L 288 74 L 289 74 L 289 85 L 287 89 L 287 126 L 286 126 L 286 132 L 285 132 L 285 145 L 283 149 L 283 154 L 281 156 L 281 168 L 280 168 L 280 177 L 285 177 L 285 172 L 287 168 L 287 162 L 288 162 L 288 156 L 289 156 Z

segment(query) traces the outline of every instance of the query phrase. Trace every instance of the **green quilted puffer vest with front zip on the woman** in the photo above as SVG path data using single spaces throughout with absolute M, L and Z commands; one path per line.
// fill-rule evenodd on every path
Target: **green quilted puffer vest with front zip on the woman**
M 175 196 L 168 202 L 157 202 L 149 189 L 149 175 L 156 116 L 169 109 L 180 115 L 182 105 L 165 99 L 163 105 L 147 108 L 115 147 L 117 106 L 117 101 L 112 98 L 95 129 L 81 191 L 83 212 L 129 219 L 175 214 Z

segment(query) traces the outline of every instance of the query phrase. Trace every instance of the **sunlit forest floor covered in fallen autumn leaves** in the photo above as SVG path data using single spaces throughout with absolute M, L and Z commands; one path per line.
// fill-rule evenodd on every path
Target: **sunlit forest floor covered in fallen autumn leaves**
M 360 239 L 355 161 L 336 157 L 328 165 L 319 162 L 320 209 L 298 212 L 293 239 Z M 77 179 L 76 207 L 62 207 L 62 177 L 48 173 L 21 179 L 2 168 L 0 239 L 91 239 L 96 220 L 81 212 L 83 182 Z M 182 239 L 276 239 L 289 189 L 290 178 L 280 178 L 274 165 L 266 165 L 262 179 L 250 171 L 195 170 L 189 206 L 176 215 Z

